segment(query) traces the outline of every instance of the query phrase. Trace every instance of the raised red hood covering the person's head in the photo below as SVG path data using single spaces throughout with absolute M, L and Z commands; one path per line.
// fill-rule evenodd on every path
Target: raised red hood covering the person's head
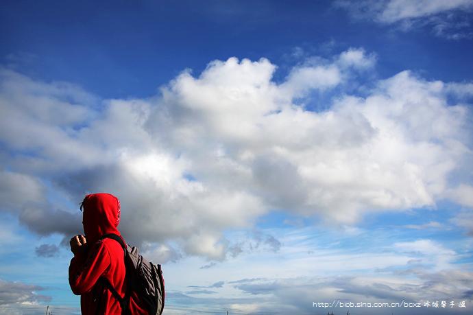
M 97 242 L 105 234 L 120 235 L 120 201 L 112 194 L 90 194 L 82 201 L 82 225 L 89 244 Z

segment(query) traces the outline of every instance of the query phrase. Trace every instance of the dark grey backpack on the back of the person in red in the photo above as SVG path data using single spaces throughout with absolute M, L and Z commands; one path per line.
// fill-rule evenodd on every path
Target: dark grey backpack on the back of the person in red
M 122 314 L 130 314 L 129 303 L 133 291 L 137 293 L 140 304 L 147 308 L 149 315 L 161 315 L 165 308 L 165 279 L 162 277 L 161 265 L 147 261 L 138 253 L 138 248 L 125 244 L 119 235 L 106 234 L 101 238 L 119 242 L 125 252 L 125 281 L 127 281 L 125 296 L 121 297 L 110 282 L 103 278 L 106 288 L 119 301 Z

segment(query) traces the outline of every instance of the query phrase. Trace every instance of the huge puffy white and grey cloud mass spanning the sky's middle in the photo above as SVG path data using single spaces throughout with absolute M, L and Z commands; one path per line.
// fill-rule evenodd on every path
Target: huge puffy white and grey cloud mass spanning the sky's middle
M 230 58 L 197 77 L 184 71 L 156 97 L 105 100 L 103 110 L 75 86 L 3 71 L 2 176 L 12 180 L 2 193 L 21 222 L 45 234 L 71 233 L 80 219 L 46 200 L 44 187 L 75 205 L 110 191 L 128 242 L 173 240 L 184 254 L 215 260 L 230 250 L 223 231 L 271 209 L 352 224 L 367 211 L 434 207 L 471 152 L 470 113 L 448 104 L 450 85 L 403 71 L 365 98 L 338 95 L 324 112 L 293 102 L 317 102 L 310 91 L 343 89 L 375 61 L 349 49 L 276 84 L 269 60 Z M 44 199 L 35 207 L 21 206 L 28 185 L 25 200 Z

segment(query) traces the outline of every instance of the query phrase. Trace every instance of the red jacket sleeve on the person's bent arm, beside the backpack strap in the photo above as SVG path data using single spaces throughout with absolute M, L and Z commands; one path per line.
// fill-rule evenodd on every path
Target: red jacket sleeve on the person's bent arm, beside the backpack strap
M 104 242 L 95 244 L 88 253 L 77 254 L 69 266 L 69 285 L 76 295 L 89 292 L 110 266 L 110 253 Z

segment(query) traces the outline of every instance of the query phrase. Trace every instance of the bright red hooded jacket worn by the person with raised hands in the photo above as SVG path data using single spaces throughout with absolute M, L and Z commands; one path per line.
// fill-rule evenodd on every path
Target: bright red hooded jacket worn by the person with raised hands
M 82 202 L 84 209 L 84 233 L 87 250 L 77 253 L 69 266 L 69 285 L 74 294 L 80 295 L 82 314 L 121 314 L 119 301 L 114 298 L 104 283 L 106 278 L 120 296 L 126 292 L 125 261 L 121 245 L 111 239 L 101 240 L 103 235 L 114 233 L 120 222 L 120 202 L 111 194 L 90 194 Z M 130 311 L 132 314 L 147 314 L 139 307 L 132 294 Z

